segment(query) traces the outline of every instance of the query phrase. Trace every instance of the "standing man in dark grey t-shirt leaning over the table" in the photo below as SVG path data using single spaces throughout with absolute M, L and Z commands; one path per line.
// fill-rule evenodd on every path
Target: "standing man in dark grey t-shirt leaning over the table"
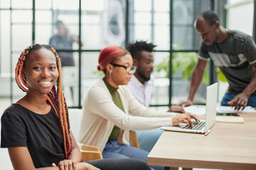
M 212 59 L 229 84 L 221 105 L 237 110 L 245 106 L 256 107 L 256 45 L 250 35 L 223 28 L 213 11 L 201 13 L 194 26 L 203 42 L 198 53 L 198 63 L 193 70 L 188 100 L 179 105 L 192 105 L 206 63 Z

